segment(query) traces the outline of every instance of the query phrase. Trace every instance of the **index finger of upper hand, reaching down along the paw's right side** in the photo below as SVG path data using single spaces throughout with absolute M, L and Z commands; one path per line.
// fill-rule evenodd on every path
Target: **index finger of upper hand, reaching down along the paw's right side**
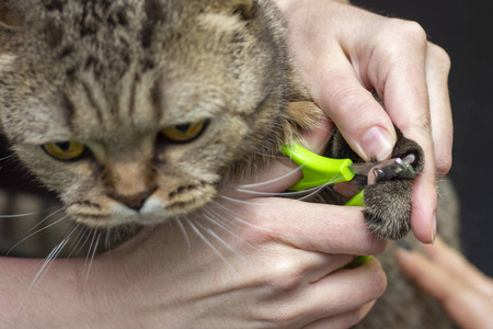
M 425 167 L 413 186 L 411 227 L 416 238 L 432 242 L 437 196 L 435 186 L 435 152 L 431 131 L 429 100 L 425 73 L 426 34 L 413 22 L 393 21 L 399 33 L 385 33 L 392 45 L 376 47 L 376 60 L 368 65 L 365 79 L 383 99 L 386 111 L 406 138 L 424 151 Z

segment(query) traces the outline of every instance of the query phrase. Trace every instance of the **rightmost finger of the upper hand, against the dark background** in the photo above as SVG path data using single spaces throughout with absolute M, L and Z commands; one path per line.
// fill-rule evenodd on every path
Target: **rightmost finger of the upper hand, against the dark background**
M 448 94 L 450 58 L 447 53 L 428 42 L 426 47 L 426 81 L 429 94 L 432 135 L 435 144 L 435 161 L 438 178 L 451 166 L 454 125 Z

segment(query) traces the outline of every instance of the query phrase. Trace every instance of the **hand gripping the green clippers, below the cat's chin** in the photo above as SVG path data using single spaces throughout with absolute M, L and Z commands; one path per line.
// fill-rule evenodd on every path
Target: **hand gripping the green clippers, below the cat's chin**
M 307 136 L 312 149 L 326 141 L 326 129 L 319 132 Z M 287 162 L 273 163 L 259 181 L 293 172 Z M 299 170 L 293 173 L 274 186 L 242 182 L 254 193 L 229 191 L 98 258 L 92 272 L 102 279 L 90 284 L 116 300 L 115 311 L 101 318 L 115 326 L 131 315 L 146 328 L 347 328 L 359 321 L 383 293 L 385 273 L 376 259 L 339 269 L 353 254 L 387 245 L 368 232 L 357 207 L 262 196 L 299 180 Z

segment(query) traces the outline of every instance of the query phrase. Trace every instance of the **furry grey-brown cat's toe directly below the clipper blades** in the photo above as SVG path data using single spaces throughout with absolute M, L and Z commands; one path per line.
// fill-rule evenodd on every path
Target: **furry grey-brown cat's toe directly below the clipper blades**
M 365 189 L 364 211 L 370 231 L 398 240 L 410 230 L 412 181 L 385 181 Z

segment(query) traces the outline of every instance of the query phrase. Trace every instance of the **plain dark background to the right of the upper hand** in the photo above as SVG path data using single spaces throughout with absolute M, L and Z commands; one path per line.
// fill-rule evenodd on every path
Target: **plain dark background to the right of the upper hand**
M 493 19 L 486 0 L 357 0 L 359 7 L 419 22 L 451 58 L 454 164 L 468 258 L 493 276 Z

